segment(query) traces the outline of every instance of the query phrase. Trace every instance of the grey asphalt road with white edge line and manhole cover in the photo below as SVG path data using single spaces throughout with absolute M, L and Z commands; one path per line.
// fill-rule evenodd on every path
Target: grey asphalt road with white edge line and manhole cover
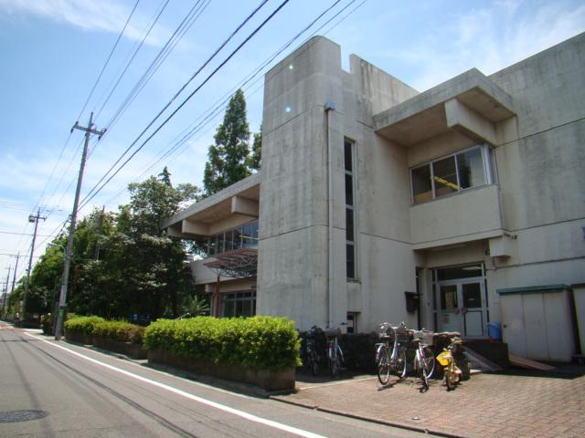
M 219 390 L 0 322 L 0 437 L 16 436 L 422 434 Z

